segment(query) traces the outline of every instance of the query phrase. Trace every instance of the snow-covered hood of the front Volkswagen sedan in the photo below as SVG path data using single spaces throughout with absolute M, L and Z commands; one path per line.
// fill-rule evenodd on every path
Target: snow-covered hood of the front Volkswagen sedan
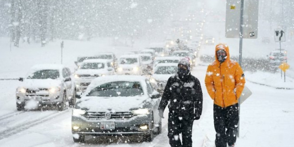
M 83 96 L 77 101 L 77 108 L 86 108 L 89 112 L 127 112 L 131 108 L 143 106 L 143 102 L 151 100 L 147 96 L 130 96 L 130 97 L 98 97 Z

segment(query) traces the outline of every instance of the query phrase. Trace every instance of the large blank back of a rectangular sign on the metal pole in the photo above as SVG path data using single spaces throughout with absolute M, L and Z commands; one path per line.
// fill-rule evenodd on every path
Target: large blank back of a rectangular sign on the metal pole
M 227 0 L 226 37 L 240 37 L 240 0 Z M 244 0 L 243 39 L 256 39 L 258 36 L 258 0 Z

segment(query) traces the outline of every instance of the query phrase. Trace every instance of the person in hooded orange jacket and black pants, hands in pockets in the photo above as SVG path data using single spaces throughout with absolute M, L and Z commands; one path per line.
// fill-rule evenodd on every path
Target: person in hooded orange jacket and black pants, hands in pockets
M 230 60 L 227 44 L 215 47 L 215 61 L 206 72 L 205 86 L 213 103 L 216 147 L 234 146 L 238 131 L 238 99 L 245 85 L 241 66 Z M 227 129 L 227 130 L 226 130 Z

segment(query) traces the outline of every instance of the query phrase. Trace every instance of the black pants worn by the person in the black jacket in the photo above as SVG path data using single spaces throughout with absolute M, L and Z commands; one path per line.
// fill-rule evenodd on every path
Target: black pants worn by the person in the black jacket
M 171 147 L 192 147 L 193 119 L 186 116 L 168 114 L 168 138 Z M 183 145 L 179 138 L 182 133 Z

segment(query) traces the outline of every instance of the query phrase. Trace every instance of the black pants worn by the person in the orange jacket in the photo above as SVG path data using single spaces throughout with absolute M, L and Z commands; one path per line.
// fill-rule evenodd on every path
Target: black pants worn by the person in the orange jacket
M 213 104 L 216 147 L 227 147 L 227 143 L 228 145 L 233 145 L 236 142 L 239 121 L 238 112 L 238 104 L 234 104 L 225 108 Z

